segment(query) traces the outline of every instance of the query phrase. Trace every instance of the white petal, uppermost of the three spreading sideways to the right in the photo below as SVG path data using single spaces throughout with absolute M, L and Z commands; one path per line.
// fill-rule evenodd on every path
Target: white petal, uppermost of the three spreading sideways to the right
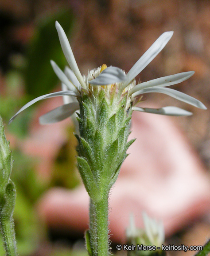
M 190 78 L 193 74 L 194 74 L 194 71 L 189 71 L 189 72 L 183 72 L 183 73 L 179 73 L 171 76 L 156 78 L 141 84 L 137 84 L 135 87 L 130 89 L 129 94 L 133 94 L 145 88 L 151 88 L 156 86 L 166 87 L 166 86 L 171 86 L 173 84 L 179 84 L 187 80 L 188 78 Z

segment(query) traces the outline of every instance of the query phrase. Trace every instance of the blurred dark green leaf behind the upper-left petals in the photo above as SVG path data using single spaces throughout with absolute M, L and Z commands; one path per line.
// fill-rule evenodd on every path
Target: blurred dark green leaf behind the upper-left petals
M 33 97 L 46 94 L 58 83 L 50 60 L 54 60 L 61 69 L 67 64 L 55 28 L 55 20 L 62 24 L 64 31 L 69 35 L 74 23 L 73 12 L 68 8 L 57 13 L 49 12 L 42 16 L 37 24 L 37 31 L 28 47 L 28 65 L 24 72 L 26 91 Z

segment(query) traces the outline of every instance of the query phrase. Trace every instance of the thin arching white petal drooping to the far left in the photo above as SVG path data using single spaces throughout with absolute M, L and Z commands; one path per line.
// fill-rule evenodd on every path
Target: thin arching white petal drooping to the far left
M 29 101 L 22 108 L 20 108 L 20 110 L 14 116 L 12 116 L 12 118 L 9 120 L 9 124 L 12 123 L 12 121 L 16 118 L 17 115 L 19 115 L 20 112 L 30 107 L 31 105 L 35 104 L 37 101 L 52 98 L 52 97 L 57 97 L 57 96 L 64 96 L 64 95 L 76 97 L 76 94 L 71 91 L 53 92 L 53 93 L 48 93 L 48 94 L 39 96 L 38 98 L 35 98 L 34 100 Z

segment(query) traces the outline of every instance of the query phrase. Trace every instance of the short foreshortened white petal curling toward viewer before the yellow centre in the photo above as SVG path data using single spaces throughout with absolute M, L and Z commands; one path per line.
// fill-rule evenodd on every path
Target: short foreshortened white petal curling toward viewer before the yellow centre
M 117 67 L 109 67 L 105 68 L 99 76 L 95 79 L 89 81 L 89 84 L 93 85 L 106 85 L 106 84 L 114 84 L 117 82 L 123 82 L 126 76 L 122 69 Z

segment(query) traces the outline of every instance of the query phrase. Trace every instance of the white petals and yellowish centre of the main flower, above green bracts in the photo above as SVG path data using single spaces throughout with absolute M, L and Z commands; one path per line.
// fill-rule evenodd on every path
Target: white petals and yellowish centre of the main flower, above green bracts
M 78 65 L 75 61 L 73 52 L 71 50 L 69 41 L 66 37 L 64 30 L 61 25 L 56 21 L 56 29 L 58 31 L 59 40 L 61 43 L 62 51 L 66 57 L 70 68 L 66 67 L 65 72 L 57 66 L 57 64 L 51 60 L 52 68 L 62 81 L 62 91 L 53 92 L 38 98 L 31 100 L 26 105 L 23 106 L 11 119 L 10 123 L 16 118 L 16 116 L 22 112 L 24 109 L 28 108 L 35 102 L 51 97 L 63 96 L 64 105 L 51 110 L 45 115 L 41 116 L 39 121 L 41 124 L 51 124 L 74 114 L 75 111 L 79 109 L 79 103 L 77 98 L 80 97 L 82 90 L 92 93 L 94 96 L 95 92 L 103 87 L 106 91 L 111 91 L 113 86 L 117 86 L 118 100 L 121 99 L 121 95 L 124 92 L 128 92 L 128 98 L 132 106 L 132 110 L 140 112 L 155 113 L 161 115 L 169 116 L 190 116 L 191 112 L 183 110 L 177 107 L 163 107 L 163 108 L 142 108 L 136 107 L 136 96 L 142 95 L 149 92 L 158 92 L 169 95 L 177 100 L 181 100 L 188 104 L 191 104 L 197 108 L 206 109 L 204 104 L 199 100 L 194 99 L 191 96 L 184 94 L 183 92 L 178 92 L 174 89 L 165 88 L 173 84 L 178 84 L 190 78 L 194 72 L 183 72 L 171 76 L 165 76 L 150 80 L 144 83 L 136 85 L 135 77 L 158 55 L 158 53 L 165 47 L 167 42 L 171 39 L 173 32 L 164 32 L 159 38 L 155 41 L 154 44 L 144 53 L 143 56 L 134 64 L 130 71 L 125 74 L 120 68 L 109 67 L 106 68 L 105 65 L 102 68 L 97 68 L 89 72 L 88 76 L 82 76 L 79 71 Z

